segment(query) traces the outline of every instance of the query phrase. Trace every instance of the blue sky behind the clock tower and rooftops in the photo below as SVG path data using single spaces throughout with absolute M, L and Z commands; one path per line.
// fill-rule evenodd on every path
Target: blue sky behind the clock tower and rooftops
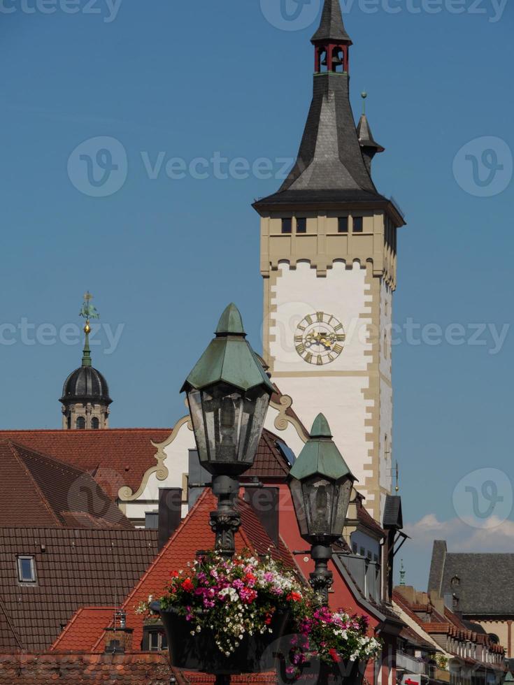
M 293 0 L 285 2 L 292 13 Z M 280 180 L 215 178 L 223 173 L 214 163 L 208 178 L 193 178 L 190 165 L 217 155 L 245 175 L 234 160 L 251 167 L 266 158 L 273 176 L 297 152 L 316 22 L 300 24 L 317 18 L 320 3 L 299 7 L 310 15 L 296 24 L 281 20 L 278 4 L 0 2 L 3 428 L 60 425 L 62 382 L 80 362 L 76 330 L 63 327 L 80 323 L 85 289 L 104 326 L 92 354 L 115 399 L 113 426 L 173 424 L 183 412 L 180 385 L 229 301 L 259 347 L 259 224 L 250 203 Z M 408 219 L 395 321 L 436 324 L 443 338 L 434 344 L 437 329 L 428 338 L 424 329 L 425 342 L 410 344 L 404 332 L 394 348 L 394 459 L 415 535 L 402 554 L 407 581 L 424 586 L 434 536 L 454 549 L 508 550 L 514 541 L 505 512 L 494 512 L 497 525 L 468 526 L 452 496 L 483 468 L 503 474 L 493 481 L 504 508 L 512 492 L 514 338 L 503 327 L 514 294 L 513 6 L 345 6 L 354 110 L 366 89 L 373 134 L 387 148 L 374 165 L 376 185 Z M 98 137 L 115 138 L 126 154 L 126 180 L 123 156 L 99 158 L 124 180 L 104 197 L 85 194 L 76 178 L 92 143 L 76 148 Z M 182 175 L 176 158 L 185 178 L 166 175 L 168 163 Z M 450 324 L 464 326 L 465 344 L 445 340 Z M 106 331 L 120 335 L 116 345 Z M 504 331 L 501 344 L 495 331 Z M 470 344 L 473 334 L 485 344 Z M 471 476 L 477 487 L 490 480 L 480 473 Z

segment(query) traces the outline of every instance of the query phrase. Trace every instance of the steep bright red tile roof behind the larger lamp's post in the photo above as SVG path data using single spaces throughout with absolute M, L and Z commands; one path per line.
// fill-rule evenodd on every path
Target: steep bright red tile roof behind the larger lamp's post
M 269 550 L 271 556 L 277 561 L 282 561 L 290 568 L 298 570 L 284 542 L 279 540 L 278 547 L 273 545 L 250 505 L 239 499 L 238 507 L 241 511 L 241 528 L 236 533 L 236 551 L 250 549 L 255 554 L 267 554 Z M 194 559 L 197 551 L 212 549 L 214 538 L 209 526 L 209 518 L 210 512 L 214 509 L 215 497 L 210 489 L 206 489 L 176 533 L 163 547 L 159 556 L 152 562 L 141 581 L 125 599 L 123 608 L 127 612 L 127 626 L 134 628 L 132 641 L 134 650 L 141 645 L 143 639 L 143 617 L 136 614 L 134 610 L 141 602 L 148 600 L 148 596 L 152 595 L 157 598 L 164 593 L 172 570 L 186 571 L 187 563 Z M 99 635 L 94 650 L 103 650 L 103 633 Z

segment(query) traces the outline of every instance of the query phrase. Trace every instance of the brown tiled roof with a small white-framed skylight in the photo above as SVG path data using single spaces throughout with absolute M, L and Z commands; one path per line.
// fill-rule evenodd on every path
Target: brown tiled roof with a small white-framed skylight
M 50 648 L 78 607 L 115 605 L 156 554 L 157 531 L 0 528 L 0 652 Z M 19 584 L 18 555 L 34 556 L 34 586 Z

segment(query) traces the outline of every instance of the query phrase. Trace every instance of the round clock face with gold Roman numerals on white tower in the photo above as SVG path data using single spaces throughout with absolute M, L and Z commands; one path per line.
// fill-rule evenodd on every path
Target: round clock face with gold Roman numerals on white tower
M 297 326 L 294 347 L 304 361 L 315 366 L 329 364 L 343 352 L 343 324 L 324 312 L 309 314 Z

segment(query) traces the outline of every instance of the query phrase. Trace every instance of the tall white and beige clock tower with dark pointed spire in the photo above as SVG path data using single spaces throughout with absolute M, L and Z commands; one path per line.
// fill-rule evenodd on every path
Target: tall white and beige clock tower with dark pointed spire
M 310 425 L 322 412 L 381 521 L 392 489 L 392 294 L 404 219 L 380 195 L 383 152 L 366 114 L 355 126 L 350 46 L 338 0 L 324 0 L 314 93 L 298 158 L 261 217 L 264 359 Z M 363 98 L 366 94 L 363 94 Z

